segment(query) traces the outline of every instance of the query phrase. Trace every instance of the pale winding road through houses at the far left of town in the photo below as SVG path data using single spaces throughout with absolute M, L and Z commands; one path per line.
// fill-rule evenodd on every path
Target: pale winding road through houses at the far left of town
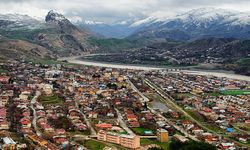
M 32 120 L 32 125 L 36 131 L 36 134 L 38 136 L 41 136 L 42 133 L 39 131 L 38 127 L 37 127 L 37 124 L 36 124 L 36 121 L 37 121 L 37 115 L 36 115 L 36 109 L 34 108 L 34 104 L 36 103 L 37 101 L 37 98 L 41 95 L 41 92 L 40 91 L 36 91 L 36 95 L 32 98 L 32 100 L 30 101 L 30 108 L 32 109 L 33 111 L 33 120 Z

